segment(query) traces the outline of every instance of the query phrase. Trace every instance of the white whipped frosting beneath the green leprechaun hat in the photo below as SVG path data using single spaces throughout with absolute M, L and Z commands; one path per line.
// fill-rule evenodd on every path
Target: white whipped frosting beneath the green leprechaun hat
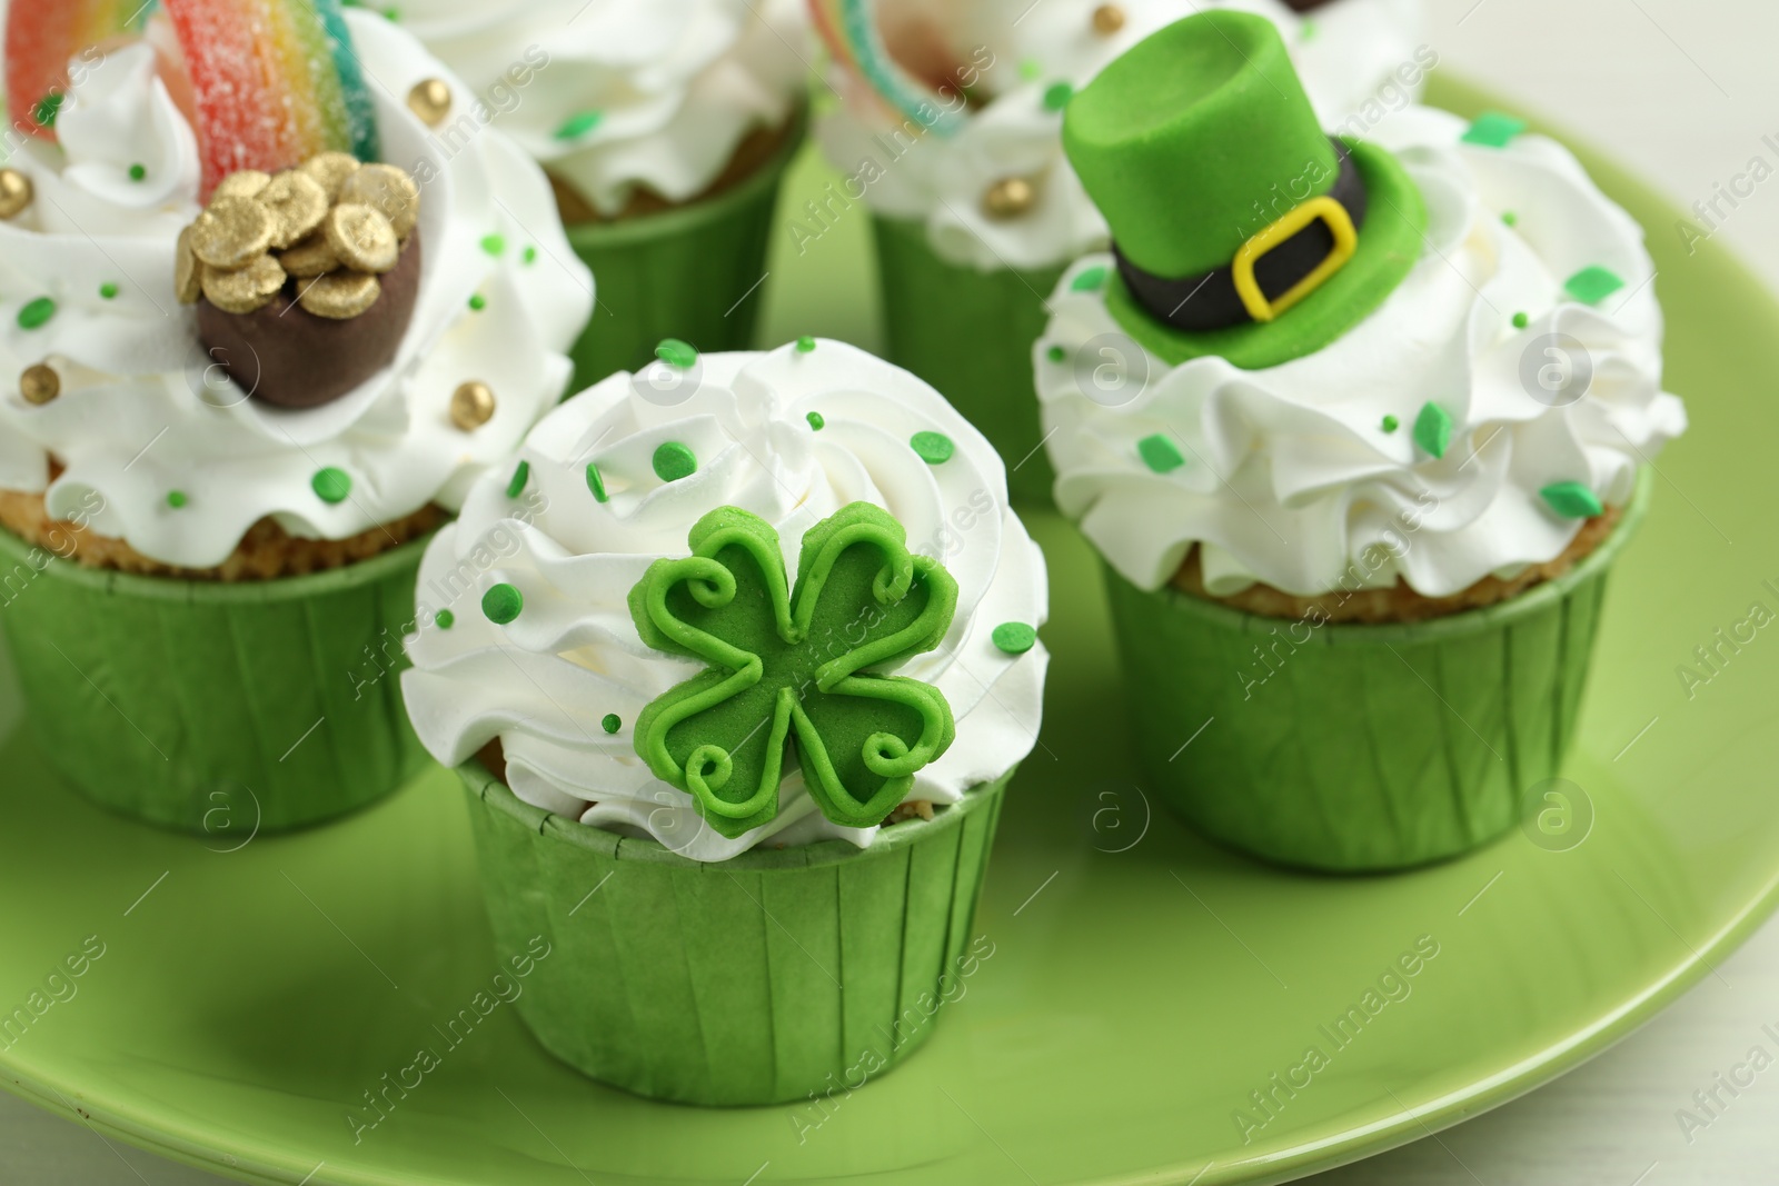
M 1123 334 L 1103 290 L 1075 292 L 1082 270 L 1110 274 L 1110 256 L 1064 276 L 1034 354 L 1057 501 L 1130 581 L 1160 589 L 1199 542 L 1215 596 L 1400 576 L 1441 597 L 1569 546 L 1582 521 L 1557 514 L 1544 487 L 1580 482 L 1622 505 L 1638 464 L 1686 429 L 1679 398 L 1662 391 L 1642 229 L 1555 140 L 1487 148 L 1461 142 L 1466 128 L 1407 108 L 1375 130 L 1427 199 L 1427 245 L 1382 306 L 1302 359 L 1169 368 Z M 1590 265 L 1624 281 L 1598 306 L 1564 290 Z M 1051 347 L 1069 357 L 1051 361 Z M 1147 368 L 1146 384 L 1091 397 L 1076 357 L 1101 361 L 1099 347 L 1105 359 L 1140 357 L 1121 375 Z M 1441 459 L 1414 443 L 1427 402 L 1453 420 Z M 1140 459 L 1155 434 L 1183 466 L 1156 473 Z

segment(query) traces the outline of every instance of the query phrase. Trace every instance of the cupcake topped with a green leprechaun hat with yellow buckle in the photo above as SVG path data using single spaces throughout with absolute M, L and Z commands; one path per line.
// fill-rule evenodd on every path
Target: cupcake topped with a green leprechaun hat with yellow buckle
M 1236 12 L 1117 59 L 1064 142 L 1114 251 L 1034 366 L 1153 784 L 1322 869 L 1510 829 L 1574 733 L 1638 462 L 1686 425 L 1642 231 L 1509 116 L 1331 139 Z

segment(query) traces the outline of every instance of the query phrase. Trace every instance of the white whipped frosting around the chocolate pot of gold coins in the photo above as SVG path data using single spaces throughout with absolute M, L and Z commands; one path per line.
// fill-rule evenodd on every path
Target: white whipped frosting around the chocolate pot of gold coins
M 422 78 L 445 78 L 464 103 L 468 91 L 388 21 L 347 20 L 374 80 L 384 160 L 422 181 L 422 286 L 395 361 L 302 411 L 246 398 L 212 365 L 192 306 L 173 290 L 178 233 L 199 213 L 196 137 L 155 75 L 153 48 L 114 50 L 76 64 L 60 148 L 32 142 L 9 162 L 30 176 L 36 201 L 0 222 L 0 373 L 48 361 L 62 393 L 37 407 L 5 384 L 0 489 L 46 491 L 52 516 L 84 510 L 93 530 L 155 560 L 212 567 L 267 516 L 292 535 L 345 539 L 432 501 L 455 509 L 560 398 L 592 277 L 568 247 L 548 181 L 498 132 L 441 146 L 391 96 Z M 142 181 L 130 178 L 135 164 Z M 484 251 L 489 235 L 505 240 L 500 256 Z M 21 327 L 20 309 L 39 297 L 55 315 Z M 496 411 L 463 432 L 450 398 L 470 379 L 489 384 Z M 52 455 L 66 466 L 53 485 Z M 313 489 L 329 466 L 352 480 L 340 503 Z

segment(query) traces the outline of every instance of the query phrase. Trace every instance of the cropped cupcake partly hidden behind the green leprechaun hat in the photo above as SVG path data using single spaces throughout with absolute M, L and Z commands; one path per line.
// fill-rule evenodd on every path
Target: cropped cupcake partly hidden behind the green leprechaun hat
M 1018 498 L 1051 496 L 1026 357 L 1044 297 L 1071 260 L 1107 244 L 1062 153 L 1062 108 L 1107 62 L 1203 7 L 898 4 L 884 5 L 865 44 L 843 14 L 817 21 L 841 94 L 817 137 L 845 174 L 843 197 L 873 217 L 890 357 L 987 432 Z M 1407 105 L 1437 62 L 1414 41 L 1418 0 L 1233 7 L 1279 27 L 1329 126 L 1363 130 Z

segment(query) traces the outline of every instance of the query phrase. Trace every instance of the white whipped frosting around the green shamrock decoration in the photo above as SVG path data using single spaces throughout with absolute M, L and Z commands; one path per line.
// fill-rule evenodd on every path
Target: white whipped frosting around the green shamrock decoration
M 687 535 L 717 507 L 770 523 L 795 581 L 804 532 L 868 501 L 895 514 L 909 549 L 941 560 L 959 587 L 945 642 L 888 669 L 939 688 L 957 718 L 957 740 L 914 775 L 907 798 L 955 804 L 1007 773 L 1035 743 L 1048 656 L 1042 644 L 1007 654 L 991 635 L 1005 622 L 1039 626 L 1048 590 L 1044 557 L 1007 507 L 1005 469 L 982 434 L 927 384 L 838 341 L 706 354 L 694 384 L 674 375 L 655 363 L 562 404 L 519 450 L 525 489 L 509 496 L 511 473 L 489 475 L 427 549 L 402 690 L 432 756 L 457 765 L 500 738 L 525 802 L 653 836 L 696 861 L 836 836 L 868 846 L 877 829 L 822 816 L 797 763 L 779 814 L 735 839 L 649 773 L 633 749 L 637 715 L 701 665 L 648 649 L 628 605 L 649 564 L 690 555 Z M 909 445 L 916 432 L 943 432 L 954 455 L 922 461 Z M 667 441 L 692 448 L 692 477 L 656 477 L 651 459 Z M 589 491 L 589 462 L 605 503 Z M 496 583 L 525 599 L 507 626 L 480 608 Z M 616 733 L 607 715 L 621 722 Z

